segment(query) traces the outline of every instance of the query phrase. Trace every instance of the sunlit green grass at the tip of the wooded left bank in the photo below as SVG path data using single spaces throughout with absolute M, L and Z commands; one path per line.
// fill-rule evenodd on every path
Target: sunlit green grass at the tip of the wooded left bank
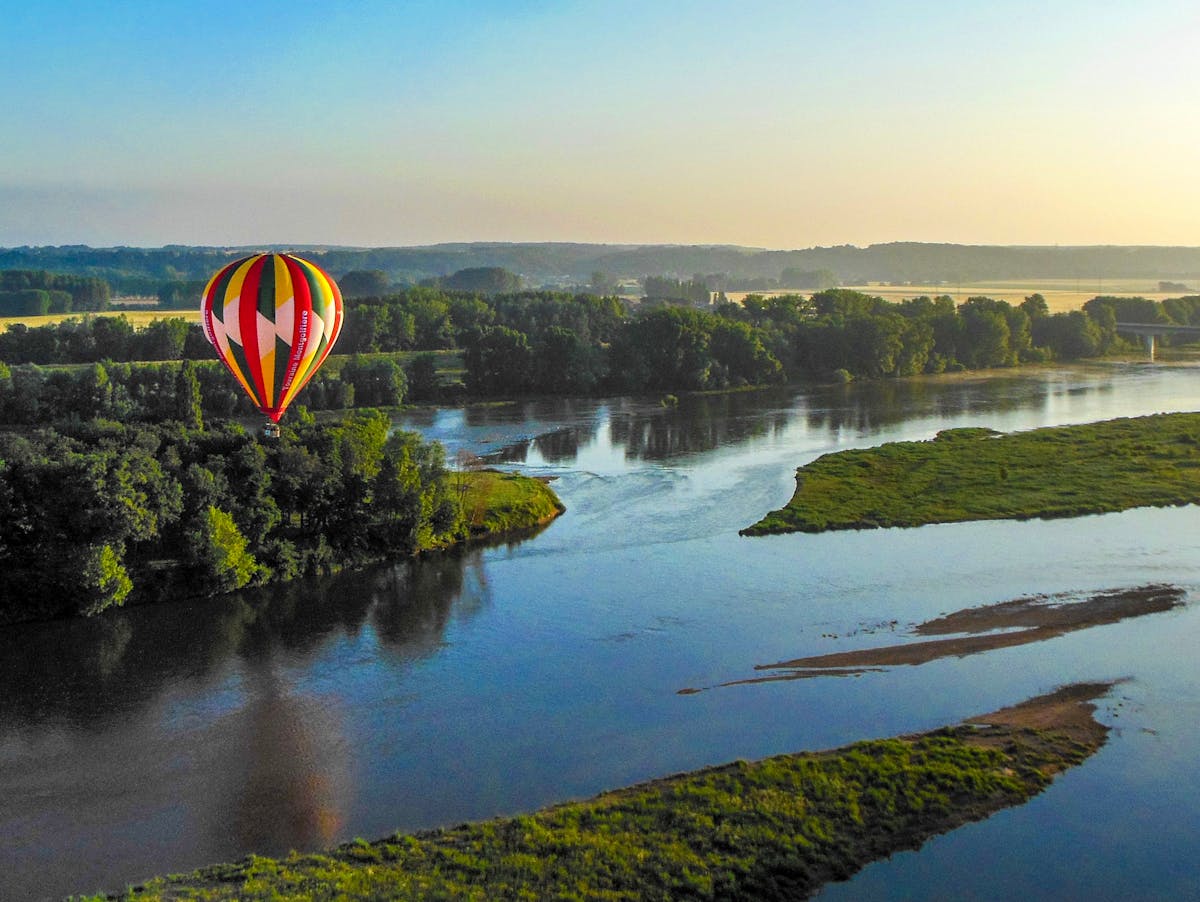
M 472 536 L 533 529 L 566 510 L 545 482 L 516 473 L 466 470 L 450 474 L 450 485 L 463 495 Z

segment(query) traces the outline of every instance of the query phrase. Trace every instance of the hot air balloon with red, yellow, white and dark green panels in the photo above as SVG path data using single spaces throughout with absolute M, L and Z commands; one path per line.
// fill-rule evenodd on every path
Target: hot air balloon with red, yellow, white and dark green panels
M 275 423 L 325 362 L 342 318 L 334 279 L 292 254 L 234 260 L 212 277 L 200 301 L 204 335 Z

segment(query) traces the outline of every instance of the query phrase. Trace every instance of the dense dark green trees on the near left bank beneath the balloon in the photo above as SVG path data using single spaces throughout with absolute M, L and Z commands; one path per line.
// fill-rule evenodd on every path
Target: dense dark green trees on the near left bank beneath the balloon
M 464 535 L 440 445 L 374 411 L 293 421 L 274 441 L 229 421 L 0 432 L 0 623 L 180 585 L 228 591 Z

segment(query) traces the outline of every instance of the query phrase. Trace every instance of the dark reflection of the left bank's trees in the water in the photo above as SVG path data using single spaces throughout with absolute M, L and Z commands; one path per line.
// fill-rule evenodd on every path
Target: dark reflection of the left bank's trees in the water
M 0 636 L 0 738 L 48 723 L 103 732 L 164 692 L 214 692 L 233 673 L 256 674 L 277 661 L 306 667 L 368 625 L 394 659 L 433 654 L 452 609 L 460 619 L 481 609 L 480 557 L 478 548 L 446 552 L 319 585 L 299 581 L 10 627 Z M 253 694 L 251 682 L 239 694 Z

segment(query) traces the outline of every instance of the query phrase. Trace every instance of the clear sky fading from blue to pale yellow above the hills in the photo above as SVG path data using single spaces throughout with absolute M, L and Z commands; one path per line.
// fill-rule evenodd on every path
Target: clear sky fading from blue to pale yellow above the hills
M 0 0 L 0 246 L 1200 246 L 1194 0 Z

